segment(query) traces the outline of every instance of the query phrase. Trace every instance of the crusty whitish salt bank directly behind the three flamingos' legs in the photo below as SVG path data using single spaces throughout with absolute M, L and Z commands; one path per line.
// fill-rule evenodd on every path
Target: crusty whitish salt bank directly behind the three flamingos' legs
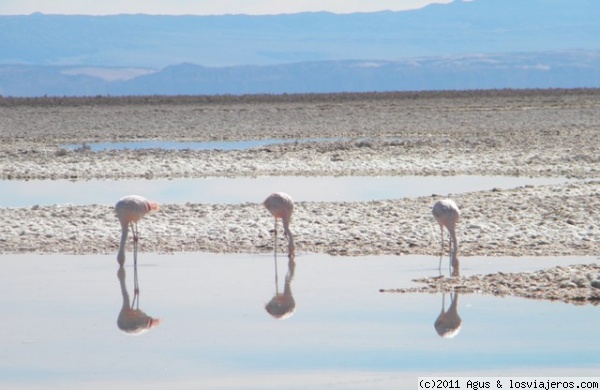
M 600 210 L 599 191 L 600 181 L 580 181 L 456 194 L 459 255 L 598 255 L 600 228 L 589 210 Z M 291 228 L 303 252 L 437 255 L 439 227 L 430 210 L 439 198 L 298 202 Z M 270 252 L 272 226 L 258 203 L 166 204 L 140 222 L 140 246 L 167 253 Z M 3 253 L 116 253 L 119 232 L 108 205 L 0 209 Z

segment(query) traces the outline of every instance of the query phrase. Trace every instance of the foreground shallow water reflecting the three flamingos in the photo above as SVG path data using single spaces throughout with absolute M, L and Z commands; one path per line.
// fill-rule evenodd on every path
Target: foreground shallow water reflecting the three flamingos
M 379 292 L 437 275 L 433 256 L 300 254 L 289 280 L 295 310 L 283 320 L 265 304 L 285 291 L 285 256 L 277 280 L 272 255 L 140 253 L 138 261 L 139 308 L 161 323 L 132 336 L 117 326 L 124 296 L 115 256 L 0 256 L 0 387 L 389 389 L 412 388 L 419 375 L 600 368 L 598 307 L 461 295 L 460 330 L 442 338 L 434 328 L 442 295 Z M 597 261 L 463 258 L 461 271 Z

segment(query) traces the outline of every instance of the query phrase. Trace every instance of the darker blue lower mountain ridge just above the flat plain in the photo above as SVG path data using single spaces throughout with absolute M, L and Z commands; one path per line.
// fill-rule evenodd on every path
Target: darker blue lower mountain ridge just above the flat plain
M 214 95 L 502 88 L 600 88 L 600 51 L 506 53 L 405 61 L 166 67 L 106 80 L 119 68 L 0 65 L 4 96 Z M 125 69 L 131 73 L 131 69 Z

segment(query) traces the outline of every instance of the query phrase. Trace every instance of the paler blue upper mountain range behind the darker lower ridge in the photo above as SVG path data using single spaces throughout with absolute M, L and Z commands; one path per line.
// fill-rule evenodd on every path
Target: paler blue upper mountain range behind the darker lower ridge
M 0 16 L 0 64 L 163 68 L 600 50 L 598 0 L 274 16 Z

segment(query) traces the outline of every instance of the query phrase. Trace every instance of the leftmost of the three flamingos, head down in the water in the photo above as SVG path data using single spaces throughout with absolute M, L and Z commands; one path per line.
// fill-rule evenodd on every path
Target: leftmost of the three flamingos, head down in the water
M 129 195 L 119 199 L 115 205 L 115 213 L 119 222 L 121 222 L 121 243 L 119 244 L 119 253 L 117 254 L 117 261 L 119 265 L 123 267 L 125 264 L 125 243 L 127 242 L 127 234 L 129 228 L 131 228 L 133 234 L 133 249 L 137 251 L 138 242 L 138 229 L 137 221 L 142 219 L 144 215 L 150 211 L 158 210 L 158 204 L 151 202 L 138 195 Z M 134 256 L 134 261 L 137 256 Z

